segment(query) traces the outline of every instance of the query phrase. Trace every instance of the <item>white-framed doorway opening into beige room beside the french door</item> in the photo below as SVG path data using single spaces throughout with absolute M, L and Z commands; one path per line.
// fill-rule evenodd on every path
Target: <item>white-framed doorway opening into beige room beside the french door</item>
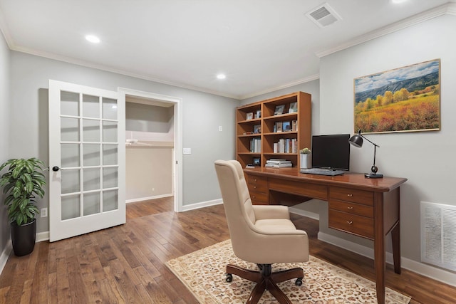
M 182 211 L 182 99 L 125 88 L 119 93 L 138 117 L 125 120 L 126 202 L 172 196 L 174 211 Z

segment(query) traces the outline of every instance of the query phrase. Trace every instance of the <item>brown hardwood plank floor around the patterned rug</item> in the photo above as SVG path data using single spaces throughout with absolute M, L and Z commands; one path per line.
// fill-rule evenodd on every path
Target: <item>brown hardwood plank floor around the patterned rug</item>
M 309 234 L 311 254 L 374 279 L 373 260 L 318 241 L 318 221 L 292 215 Z M 127 224 L 36 243 L 13 253 L 0 276 L 0 303 L 197 303 L 165 262 L 229 239 L 222 205 L 175 213 L 172 199 L 127 205 Z M 456 288 L 388 266 L 388 287 L 410 303 L 456 303 Z

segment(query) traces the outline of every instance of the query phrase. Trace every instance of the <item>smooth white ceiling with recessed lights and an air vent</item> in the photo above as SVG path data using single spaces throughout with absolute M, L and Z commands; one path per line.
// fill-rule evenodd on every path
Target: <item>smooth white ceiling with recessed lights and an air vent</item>
M 0 28 L 14 51 L 244 99 L 317 79 L 321 56 L 455 4 L 391 1 L 0 0 Z M 306 13 L 325 3 L 342 20 L 321 28 Z

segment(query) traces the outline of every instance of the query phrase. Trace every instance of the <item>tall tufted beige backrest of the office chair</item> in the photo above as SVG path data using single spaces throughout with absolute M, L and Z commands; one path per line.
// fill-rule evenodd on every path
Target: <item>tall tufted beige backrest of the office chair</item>
M 229 236 L 234 253 L 252 234 L 255 214 L 241 164 L 236 160 L 217 160 L 215 171 L 219 179 Z

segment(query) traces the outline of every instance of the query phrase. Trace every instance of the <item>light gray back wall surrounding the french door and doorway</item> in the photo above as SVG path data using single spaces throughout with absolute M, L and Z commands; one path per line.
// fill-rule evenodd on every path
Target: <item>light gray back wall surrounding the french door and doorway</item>
M 192 148 L 192 154 L 183 157 L 183 204 L 220 198 L 213 162 L 234 157 L 237 100 L 11 51 L 10 155 L 13 157 L 36 156 L 48 162 L 49 79 L 182 98 L 183 146 Z M 219 132 L 219 125 L 223 126 L 223 132 Z M 38 204 L 38 208 L 48 206 L 48 197 Z M 42 231 L 48 231 L 48 218 L 38 218 L 38 232 Z

